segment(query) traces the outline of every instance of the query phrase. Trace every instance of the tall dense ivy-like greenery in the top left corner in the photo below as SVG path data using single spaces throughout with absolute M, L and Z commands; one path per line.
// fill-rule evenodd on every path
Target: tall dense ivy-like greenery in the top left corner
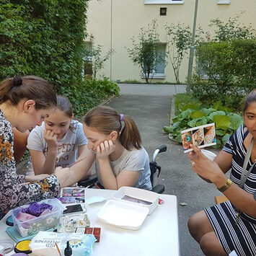
M 37 75 L 58 90 L 81 81 L 88 0 L 0 0 L 0 80 Z

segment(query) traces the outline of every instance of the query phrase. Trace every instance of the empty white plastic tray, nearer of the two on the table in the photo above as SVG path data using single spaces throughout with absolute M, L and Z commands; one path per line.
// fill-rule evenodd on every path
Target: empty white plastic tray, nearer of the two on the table
M 149 208 L 110 199 L 102 206 L 97 216 L 107 224 L 137 230 L 144 223 L 148 213 Z

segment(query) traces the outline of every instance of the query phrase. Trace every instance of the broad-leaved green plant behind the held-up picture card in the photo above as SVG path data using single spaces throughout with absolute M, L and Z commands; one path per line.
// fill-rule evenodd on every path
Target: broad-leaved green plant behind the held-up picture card
M 172 125 L 164 126 L 164 132 L 170 133 L 172 138 L 182 143 L 181 131 L 187 128 L 215 123 L 216 125 L 216 146 L 223 146 L 229 136 L 239 128 L 243 123 L 241 115 L 231 112 L 228 107 L 221 106 L 220 102 L 216 102 L 210 108 L 198 105 L 187 106 L 180 112 L 180 115 L 172 118 Z

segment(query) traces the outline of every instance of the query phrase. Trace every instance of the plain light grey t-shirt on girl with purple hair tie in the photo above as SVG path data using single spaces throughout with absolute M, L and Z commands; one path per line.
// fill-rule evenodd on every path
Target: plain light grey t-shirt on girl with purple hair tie
M 151 190 L 149 155 L 143 147 L 142 149 L 133 149 L 131 151 L 124 149 L 123 154 L 116 161 L 110 161 L 110 166 L 115 177 L 122 170 L 140 172 L 138 181 L 134 187 Z M 102 184 L 100 167 L 97 161 L 95 162 L 95 168 L 98 180 Z

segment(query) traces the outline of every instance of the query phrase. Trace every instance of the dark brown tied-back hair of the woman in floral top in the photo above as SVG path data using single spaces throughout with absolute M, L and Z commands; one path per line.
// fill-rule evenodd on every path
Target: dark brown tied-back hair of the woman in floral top
M 56 106 L 53 86 L 38 76 L 14 76 L 0 82 L 0 104 L 9 101 L 17 105 L 20 100 L 35 100 L 35 109 Z

